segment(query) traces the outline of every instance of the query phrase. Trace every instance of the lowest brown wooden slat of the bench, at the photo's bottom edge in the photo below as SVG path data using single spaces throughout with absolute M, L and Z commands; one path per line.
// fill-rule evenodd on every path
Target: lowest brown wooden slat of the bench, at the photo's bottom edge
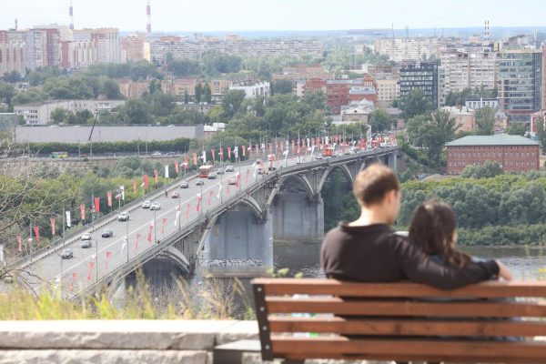
M 315 352 L 318 355 L 360 354 L 440 356 L 444 359 L 465 357 L 502 358 L 513 357 L 517 352 L 521 359 L 544 361 L 546 343 L 540 342 L 492 342 L 492 341 L 441 341 L 433 339 L 347 339 L 342 337 L 286 338 L 271 336 L 273 351 L 283 355 Z

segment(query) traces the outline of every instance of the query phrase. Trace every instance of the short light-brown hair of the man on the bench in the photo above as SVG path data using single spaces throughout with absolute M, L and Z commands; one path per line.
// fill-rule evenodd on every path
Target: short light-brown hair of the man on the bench
M 360 171 L 353 183 L 353 194 L 360 206 L 377 204 L 383 200 L 387 192 L 399 189 L 399 180 L 394 172 L 379 163 Z

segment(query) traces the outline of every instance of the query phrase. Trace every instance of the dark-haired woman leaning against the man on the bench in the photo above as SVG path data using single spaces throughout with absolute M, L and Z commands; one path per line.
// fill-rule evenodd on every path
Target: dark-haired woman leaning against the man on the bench
M 410 241 L 439 264 L 463 268 L 479 261 L 457 248 L 457 218 L 449 204 L 430 199 L 417 207 L 410 223 Z M 511 280 L 511 272 L 501 262 L 499 278 Z

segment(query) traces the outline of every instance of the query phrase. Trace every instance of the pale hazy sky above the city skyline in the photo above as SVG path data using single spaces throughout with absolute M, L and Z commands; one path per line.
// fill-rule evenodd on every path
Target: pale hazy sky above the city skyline
M 146 0 L 73 0 L 76 28 L 145 30 Z M 545 0 L 151 0 L 153 31 L 546 25 Z M 0 29 L 68 24 L 69 0 L 0 0 Z

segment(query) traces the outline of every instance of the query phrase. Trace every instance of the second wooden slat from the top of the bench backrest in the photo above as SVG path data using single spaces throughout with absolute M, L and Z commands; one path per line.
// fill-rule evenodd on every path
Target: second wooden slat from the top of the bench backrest
M 268 313 L 331 313 L 358 316 L 458 318 L 546 317 L 546 302 L 430 302 L 267 297 Z

